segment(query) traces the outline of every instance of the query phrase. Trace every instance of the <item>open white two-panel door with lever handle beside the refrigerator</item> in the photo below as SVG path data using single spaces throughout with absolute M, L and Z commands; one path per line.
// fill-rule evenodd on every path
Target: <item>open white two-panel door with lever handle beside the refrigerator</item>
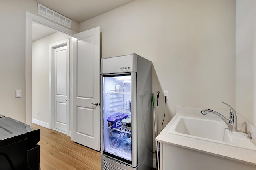
M 75 34 L 72 50 L 71 139 L 100 150 L 100 27 Z

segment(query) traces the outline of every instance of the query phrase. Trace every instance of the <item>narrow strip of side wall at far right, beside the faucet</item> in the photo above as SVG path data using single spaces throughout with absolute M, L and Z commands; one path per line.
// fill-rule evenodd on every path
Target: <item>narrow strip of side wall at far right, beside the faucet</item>
M 236 0 L 236 112 L 256 126 L 256 1 Z

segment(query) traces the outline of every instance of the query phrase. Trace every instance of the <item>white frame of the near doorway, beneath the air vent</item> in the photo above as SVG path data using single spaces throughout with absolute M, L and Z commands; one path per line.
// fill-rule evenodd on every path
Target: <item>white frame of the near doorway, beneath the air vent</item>
M 25 72 L 26 72 L 26 124 L 28 125 L 31 125 L 32 123 L 32 22 L 33 21 L 37 22 L 38 24 L 42 24 L 44 26 L 53 28 L 69 36 L 73 36 L 74 34 L 76 34 L 76 32 L 64 26 L 56 24 L 50 20 L 47 20 L 45 18 L 42 18 L 30 12 L 26 12 L 26 71 Z M 70 64 L 72 67 L 72 58 L 70 59 Z M 70 79 L 72 80 L 71 72 L 70 72 Z M 50 87 L 50 84 L 49 84 L 49 87 Z M 72 85 L 70 85 L 70 88 L 72 89 Z M 72 98 L 70 98 L 70 104 L 71 104 L 70 109 L 72 109 Z M 49 113 L 51 113 L 50 110 L 49 110 Z

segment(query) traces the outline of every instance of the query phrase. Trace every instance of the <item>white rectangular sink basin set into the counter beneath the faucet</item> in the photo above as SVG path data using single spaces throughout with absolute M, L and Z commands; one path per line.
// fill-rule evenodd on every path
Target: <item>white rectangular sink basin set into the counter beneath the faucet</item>
M 243 132 L 230 132 L 226 123 L 221 119 L 178 116 L 168 130 L 168 133 L 256 150 L 256 146 L 244 136 Z

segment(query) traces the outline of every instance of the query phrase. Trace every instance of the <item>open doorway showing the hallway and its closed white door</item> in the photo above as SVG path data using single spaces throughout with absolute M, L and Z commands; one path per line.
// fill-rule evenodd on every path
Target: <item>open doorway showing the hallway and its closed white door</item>
M 53 30 L 50 32 L 52 34 L 44 34 L 39 39 L 34 39 L 35 32 L 32 31 L 32 40 L 34 40 L 32 42 L 32 122 L 68 134 L 69 40 L 71 36 L 35 22 L 32 26 L 32 29 L 35 27 L 40 32 L 44 29 Z M 58 81 L 55 81 L 54 77 Z M 54 102 L 54 100 L 57 101 Z M 56 112 L 64 115 L 56 115 Z

